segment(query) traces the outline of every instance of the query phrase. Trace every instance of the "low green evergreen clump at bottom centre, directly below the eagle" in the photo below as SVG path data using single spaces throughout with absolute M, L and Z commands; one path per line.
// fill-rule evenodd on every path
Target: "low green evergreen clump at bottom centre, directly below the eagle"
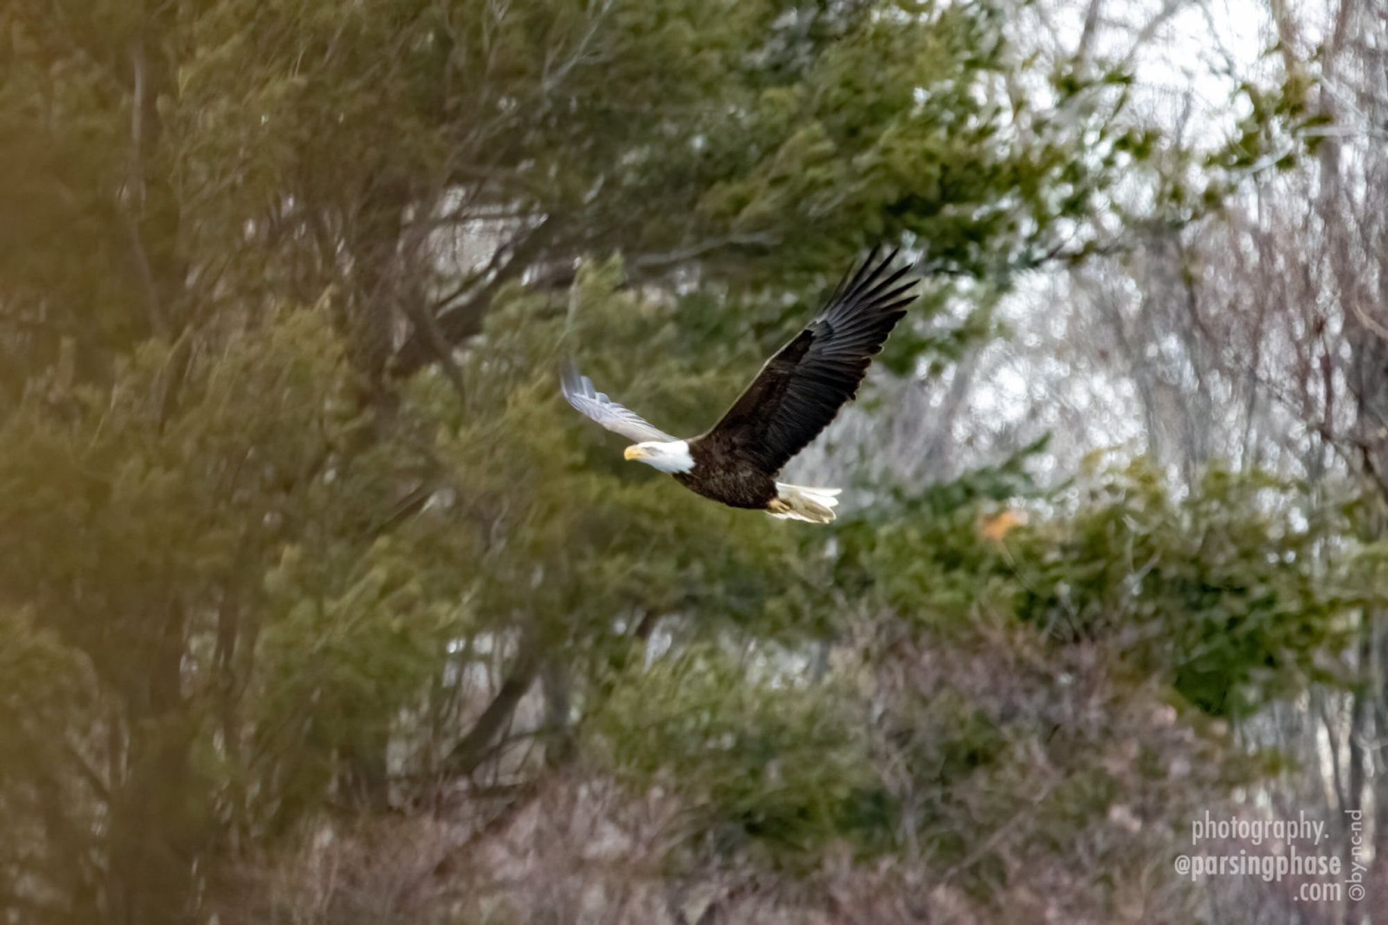
M 829 844 L 881 828 L 851 692 L 776 661 L 776 651 L 734 660 L 686 650 L 632 672 L 591 718 L 602 769 L 657 782 L 693 807 L 687 850 L 802 868 Z

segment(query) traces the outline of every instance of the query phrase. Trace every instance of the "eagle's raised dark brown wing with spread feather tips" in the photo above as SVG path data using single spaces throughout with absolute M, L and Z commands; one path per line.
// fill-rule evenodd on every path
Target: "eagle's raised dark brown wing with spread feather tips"
M 829 304 L 776 356 L 700 443 L 744 458 L 766 474 L 780 471 L 858 393 L 873 354 L 915 294 L 909 267 L 892 271 L 897 251 L 838 283 Z

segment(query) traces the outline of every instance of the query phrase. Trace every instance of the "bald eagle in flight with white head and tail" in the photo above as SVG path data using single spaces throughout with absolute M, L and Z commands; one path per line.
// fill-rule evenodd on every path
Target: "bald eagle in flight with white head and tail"
M 915 300 L 909 267 L 891 269 L 897 251 L 873 250 L 849 271 L 815 319 L 766 361 L 723 419 L 680 440 L 593 388 L 565 364 L 561 388 L 575 408 L 637 443 L 627 460 L 669 472 L 684 488 L 729 507 L 811 524 L 834 519 L 840 489 L 804 488 L 776 474 L 858 393 L 873 354 Z M 905 281 L 904 281 L 905 278 Z

